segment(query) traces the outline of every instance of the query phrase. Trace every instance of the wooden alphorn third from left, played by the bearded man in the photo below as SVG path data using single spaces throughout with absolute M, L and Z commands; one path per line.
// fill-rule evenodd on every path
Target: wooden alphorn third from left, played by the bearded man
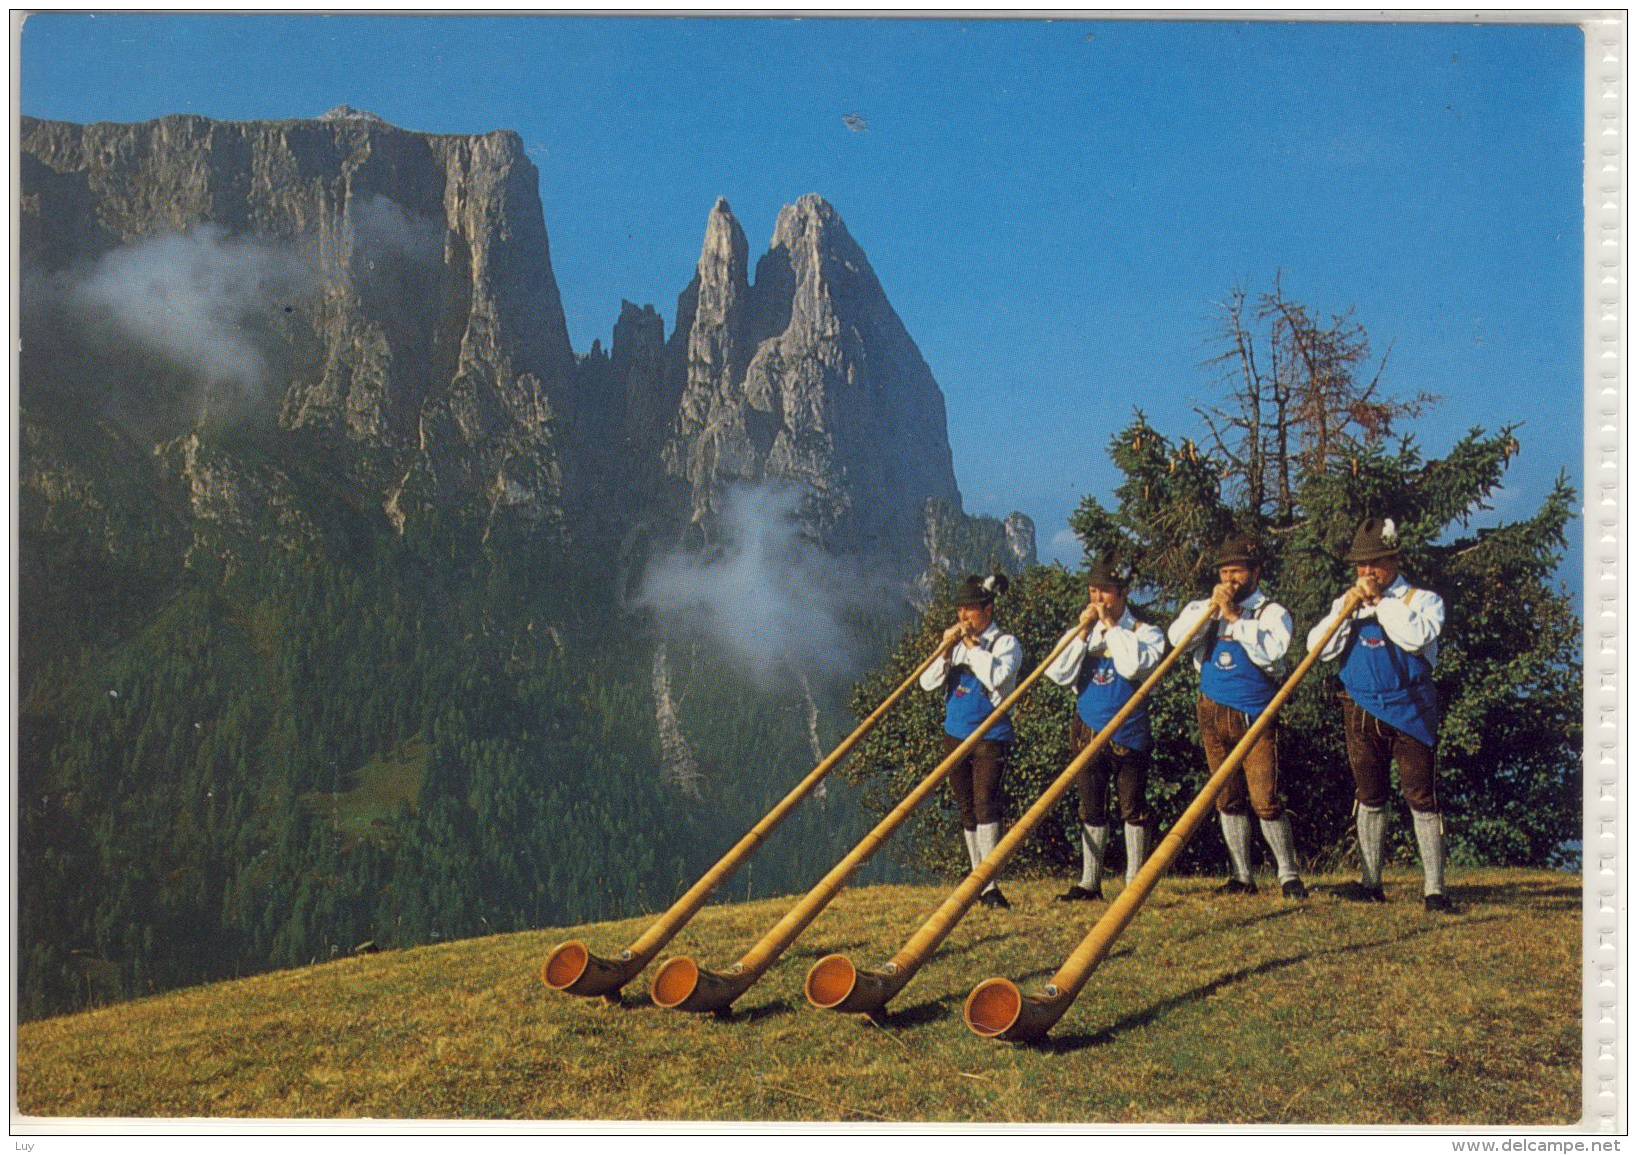
M 1035 800 L 1035 805 L 1017 820 L 1007 836 L 1000 839 L 994 851 L 979 862 L 966 880 L 954 888 L 954 892 L 943 900 L 943 905 L 933 911 L 922 928 L 910 936 L 904 947 L 892 955 L 892 959 L 881 967 L 881 970 L 858 970 L 853 960 L 845 954 L 825 955 L 814 964 L 812 970 L 807 972 L 807 1001 L 823 1011 L 843 1011 L 843 1013 L 874 1013 L 884 1008 L 892 998 L 904 990 L 915 972 L 922 968 L 927 959 L 931 957 L 933 951 L 949 936 L 956 924 L 966 918 L 966 911 L 972 908 L 977 901 L 977 895 L 989 885 L 989 880 L 1000 874 L 1000 867 L 1007 864 L 1012 852 L 1023 844 L 1035 828 L 1051 813 L 1051 808 L 1058 805 L 1058 800 L 1069 792 L 1074 785 L 1074 779 L 1079 777 L 1080 771 L 1090 764 L 1094 757 L 1108 743 L 1113 741 L 1115 733 L 1120 726 L 1138 712 L 1148 695 L 1152 692 L 1159 681 L 1177 664 L 1177 659 L 1188 648 L 1193 638 L 1205 628 L 1208 622 L 1216 617 L 1215 607 L 1210 613 L 1202 617 L 1182 643 L 1166 654 L 1154 672 L 1149 674 L 1143 685 L 1138 687 L 1136 694 L 1120 707 L 1120 712 L 1113 720 L 1097 731 L 1097 736 L 1087 743 L 1085 749 L 1074 756 L 1074 761 L 1064 767 L 1062 774 L 1046 787 L 1046 792 Z

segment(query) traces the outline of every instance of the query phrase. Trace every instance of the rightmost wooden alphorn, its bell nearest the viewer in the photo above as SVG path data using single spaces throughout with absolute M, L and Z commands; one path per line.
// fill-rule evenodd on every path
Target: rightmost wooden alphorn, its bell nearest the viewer
M 1046 1037 L 1079 996 L 1092 972 L 1097 970 L 1097 965 L 1108 957 L 1108 951 L 1113 949 L 1120 933 L 1136 918 L 1161 875 L 1166 874 L 1166 869 L 1182 852 L 1182 847 L 1188 844 L 1188 839 L 1205 820 L 1211 803 L 1216 802 L 1216 795 L 1228 784 L 1228 777 L 1239 769 L 1251 748 L 1274 725 L 1274 717 L 1290 695 L 1295 694 L 1301 679 L 1308 676 L 1308 671 L 1313 669 L 1313 664 L 1319 659 L 1319 651 L 1336 636 L 1342 622 L 1352 617 L 1352 612 L 1359 607 L 1359 600 L 1355 591 L 1347 595 L 1341 613 L 1336 615 L 1336 622 L 1326 630 L 1324 638 L 1313 646 L 1295 672 L 1285 679 L 1274 700 L 1267 703 L 1267 708 L 1262 710 L 1244 738 L 1239 739 L 1221 766 L 1216 767 L 1216 772 L 1205 782 L 1205 789 L 1200 790 L 1198 797 L 1182 813 L 1182 818 L 1177 820 L 1177 825 L 1170 828 L 1166 839 L 1149 856 L 1148 862 L 1143 864 L 1143 869 L 1138 870 L 1131 885 L 1120 892 L 1120 897 L 1110 903 L 1103 916 L 1097 919 L 1097 924 L 1092 926 L 1085 939 L 1080 941 L 1080 946 L 1064 960 L 1062 967 L 1051 977 L 1051 982 L 1046 983 L 1041 993 L 1025 998 L 1023 991 L 1010 978 L 985 978 L 972 988 L 972 993 L 966 996 L 966 1006 L 961 1013 L 966 1018 L 966 1026 L 974 1034 L 1007 1042 Z

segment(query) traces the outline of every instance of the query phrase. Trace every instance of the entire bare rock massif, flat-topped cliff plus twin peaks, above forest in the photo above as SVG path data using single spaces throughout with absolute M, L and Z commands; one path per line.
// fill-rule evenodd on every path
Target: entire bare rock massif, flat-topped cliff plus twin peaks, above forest
M 905 589 L 1033 561 L 1026 519 L 961 512 L 938 383 L 818 196 L 784 208 L 755 276 L 717 201 L 670 337 L 624 303 L 612 347 L 576 357 L 514 133 L 344 106 L 25 118 L 20 146 L 23 424 L 90 414 L 146 445 L 190 560 L 242 563 L 275 512 L 268 542 L 322 537 L 316 486 L 399 532 L 511 519 L 624 563 L 709 542 L 733 483 L 787 481 L 817 540 Z M 29 509 L 72 501 L 61 481 L 26 461 Z

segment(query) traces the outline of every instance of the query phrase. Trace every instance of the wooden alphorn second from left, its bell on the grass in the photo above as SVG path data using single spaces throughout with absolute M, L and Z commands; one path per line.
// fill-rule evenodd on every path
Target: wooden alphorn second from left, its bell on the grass
M 855 846 L 846 856 L 830 867 L 830 874 L 818 880 L 818 883 L 807 892 L 807 895 L 789 910 L 789 913 L 781 918 L 773 929 L 769 929 L 761 941 L 756 942 L 745 955 L 735 962 L 725 972 L 704 970 L 694 959 L 688 955 L 678 955 L 676 959 L 668 959 L 653 975 L 652 995 L 658 1006 L 678 1009 L 678 1011 L 725 1011 L 733 1004 L 733 1001 L 750 990 L 766 970 L 779 960 L 779 955 L 794 942 L 807 924 L 818 918 L 820 911 L 830 903 L 832 898 L 840 893 L 846 885 L 846 880 L 853 877 L 869 859 L 876 849 L 892 836 L 904 820 L 910 816 L 927 795 L 930 795 L 949 771 L 961 764 L 972 748 L 982 741 L 984 735 L 989 733 L 1000 718 L 1017 705 L 1039 676 L 1046 672 L 1046 667 L 1058 659 L 1069 643 L 1080 636 L 1080 631 L 1071 633 L 1058 643 L 1035 671 L 1023 679 L 1021 684 L 1005 700 L 990 712 L 987 718 L 967 736 L 959 746 L 949 751 L 948 757 L 938 762 L 933 771 L 920 780 L 920 784 L 904 795 L 904 800 L 894 807 L 886 818 L 876 823 L 876 828 L 864 834 L 863 841 Z

